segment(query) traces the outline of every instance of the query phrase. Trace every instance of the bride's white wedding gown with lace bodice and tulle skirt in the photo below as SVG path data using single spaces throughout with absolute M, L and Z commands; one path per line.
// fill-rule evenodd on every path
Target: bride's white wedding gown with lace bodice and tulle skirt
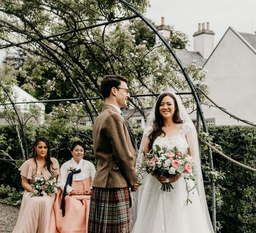
M 157 137 L 153 143 L 155 145 L 173 149 L 174 146 L 186 153 L 188 142 L 186 132 L 191 127 L 184 123 L 178 135 L 167 137 Z M 174 189 L 170 192 L 161 190 L 162 184 L 152 175 L 148 174 L 145 179 L 137 219 L 132 229 L 132 233 L 210 233 L 205 213 L 203 212 L 200 198 L 196 189 L 189 192 L 188 205 L 186 184 L 183 177 L 172 183 Z M 191 179 L 187 180 L 190 187 L 195 185 Z M 185 204 L 185 205 L 184 205 Z

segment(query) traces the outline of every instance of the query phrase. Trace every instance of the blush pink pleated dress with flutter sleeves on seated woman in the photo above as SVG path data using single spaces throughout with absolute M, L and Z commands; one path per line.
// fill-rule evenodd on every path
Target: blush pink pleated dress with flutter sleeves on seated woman
M 53 175 L 60 172 L 58 160 L 51 158 L 53 164 Z M 49 171 L 43 175 L 33 171 L 33 159 L 26 160 L 19 168 L 20 174 L 27 177 L 30 183 L 33 183 L 33 177 L 42 177 L 43 175 L 51 176 Z M 19 217 L 14 227 L 13 233 L 48 233 L 51 209 L 56 195 L 46 197 L 32 197 L 32 193 L 24 191 Z

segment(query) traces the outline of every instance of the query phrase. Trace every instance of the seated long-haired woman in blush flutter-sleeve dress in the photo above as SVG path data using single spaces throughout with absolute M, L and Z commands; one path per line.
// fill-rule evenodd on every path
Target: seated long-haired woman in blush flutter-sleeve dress
M 44 175 L 58 177 L 60 167 L 57 159 L 50 154 L 50 143 L 45 137 L 38 137 L 34 143 L 32 158 L 19 168 L 21 183 L 25 189 L 19 217 L 13 233 L 48 233 L 50 214 L 56 195 L 34 196 L 31 184 L 35 177 Z

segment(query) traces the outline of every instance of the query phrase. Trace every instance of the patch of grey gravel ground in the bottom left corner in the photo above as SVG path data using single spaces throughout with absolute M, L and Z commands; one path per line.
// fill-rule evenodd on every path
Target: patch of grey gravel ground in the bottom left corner
M 0 203 L 0 233 L 12 232 L 18 215 L 19 208 Z

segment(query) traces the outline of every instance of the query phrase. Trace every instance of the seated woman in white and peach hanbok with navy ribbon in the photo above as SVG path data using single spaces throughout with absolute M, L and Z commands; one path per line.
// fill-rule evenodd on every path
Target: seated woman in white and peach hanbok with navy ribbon
M 51 233 L 87 233 L 91 185 L 96 170 L 93 163 L 83 159 L 84 150 L 84 143 L 75 141 L 71 146 L 73 157 L 61 166 L 58 178 L 61 189 L 51 212 Z

